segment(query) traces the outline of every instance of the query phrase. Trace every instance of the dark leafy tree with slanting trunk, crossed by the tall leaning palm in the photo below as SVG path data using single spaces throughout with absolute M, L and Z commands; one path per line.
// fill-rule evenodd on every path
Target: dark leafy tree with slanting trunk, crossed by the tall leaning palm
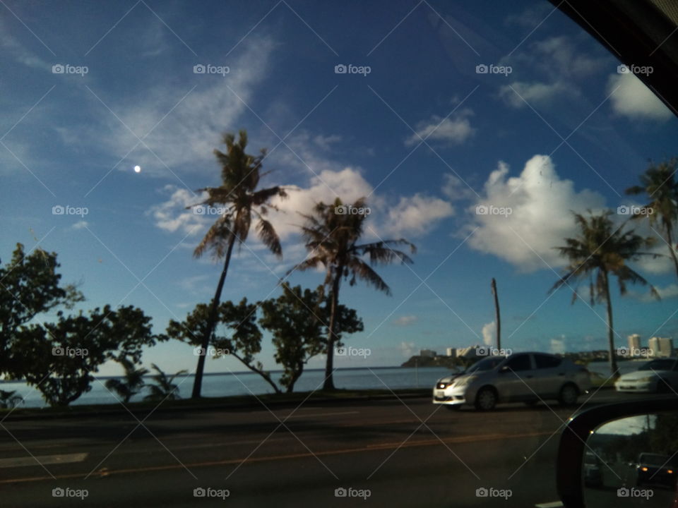
M 256 325 L 256 304 L 247 303 L 247 298 L 243 298 L 237 305 L 231 301 L 222 302 L 218 307 L 218 322 L 214 331 L 210 332 L 212 341 L 204 346 L 202 337 L 211 327 L 210 312 L 210 306 L 198 303 L 183 322 L 169 321 L 167 337 L 198 346 L 194 352 L 203 359 L 206 356 L 215 356 L 215 358 L 225 355 L 233 356 L 246 368 L 261 375 L 263 380 L 273 387 L 275 393 L 280 393 L 280 388 L 270 377 L 270 373 L 263 369 L 261 362 L 254 359 L 255 355 L 261 352 L 261 330 Z M 219 334 L 218 325 L 222 325 L 224 332 L 226 329 L 229 330 L 230 337 Z

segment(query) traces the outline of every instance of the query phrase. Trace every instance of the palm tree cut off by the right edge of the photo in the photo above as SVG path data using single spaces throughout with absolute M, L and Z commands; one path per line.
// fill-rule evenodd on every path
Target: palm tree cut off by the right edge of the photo
M 678 181 L 674 179 L 677 170 L 678 159 L 675 158 L 656 166 L 650 164 L 645 173 L 641 174 L 641 185 L 627 188 L 626 194 L 648 195 L 650 201 L 646 205 L 646 210 L 653 211 L 648 214 L 650 225 L 660 224 L 678 276 L 678 256 L 673 237 L 674 228 L 678 224 Z M 638 217 L 643 215 L 634 215 L 634 219 Z

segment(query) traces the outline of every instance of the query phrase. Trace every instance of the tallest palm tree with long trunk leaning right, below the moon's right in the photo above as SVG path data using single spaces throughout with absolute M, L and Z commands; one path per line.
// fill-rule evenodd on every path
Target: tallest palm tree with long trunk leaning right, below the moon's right
M 264 217 L 268 212 L 268 208 L 277 210 L 275 205 L 271 204 L 271 198 L 275 196 L 285 198 L 287 194 L 285 189 L 280 186 L 257 189 L 259 179 L 263 176 L 261 174 L 261 162 L 266 157 L 266 150 L 261 150 L 261 154 L 256 157 L 246 154 L 247 133 L 246 131 L 240 131 L 239 135 L 240 139 L 235 143 L 233 134 L 224 134 L 223 142 L 226 145 L 226 153 L 214 150 L 214 154 L 221 164 L 221 185 L 219 187 L 199 189 L 201 192 L 206 192 L 208 197 L 203 202 L 198 203 L 198 205 L 206 205 L 208 207 L 218 205 L 224 208 L 223 213 L 212 224 L 194 251 L 196 258 L 200 258 L 206 250 L 211 250 L 215 260 L 222 258 L 224 260 L 217 290 L 210 306 L 206 333 L 201 338 L 203 351 L 209 346 L 217 324 L 221 292 L 228 272 L 234 243 L 237 241 L 242 245 L 246 241 L 253 216 L 258 220 L 256 223 L 258 237 L 273 254 L 277 255 L 278 258 L 283 257 L 280 238 L 278 238 L 273 225 Z M 200 397 L 204 368 L 205 356 L 198 356 L 198 367 L 196 368 L 196 379 L 192 394 L 194 399 Z

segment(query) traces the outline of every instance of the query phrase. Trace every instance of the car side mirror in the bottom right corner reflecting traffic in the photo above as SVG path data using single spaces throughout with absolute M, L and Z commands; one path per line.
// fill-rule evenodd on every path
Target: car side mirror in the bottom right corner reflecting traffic
M 672 508 L 677 465 L 678 397 L 596 406 L 561 435 L 558 493 L 566 508 Z

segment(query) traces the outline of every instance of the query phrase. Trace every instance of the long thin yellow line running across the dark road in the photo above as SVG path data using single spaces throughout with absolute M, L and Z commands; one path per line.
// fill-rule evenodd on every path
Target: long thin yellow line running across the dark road
M 552 435 L 549 432 L 542 433 L 524 433 L 524 434 L 490 434 L 490 435 L 481 435 L 481 436 L 459 436 L 459 437 L 448 437 L 447 439 L 442 440 L 446 443 L 468 443 L 475 441 L 487 441 L 487 440 L 508 440 L 516 439 L 521 437 L 536 437 L 542 435 Z M 342 455 L 342 454 L 354 454 L 360 452 L 374 452 L 381 449 L 397 449 L 400 448 L 412 448 L 412 447 L 426 447 L 439 445 L 440 440 L 420 440 L 420 441 L 410 441 L 405 444 L 401 443 L 381 443 L 376 444 L 371 447 L 362 447 L 362 448 L 347 448 L 347 449 L 337 449 L 337 450 L 326 450 L 324 452 L 314 452 L 314 453 L 298 453 L 298 454 L 286 454 L 286 455 L 272 455 L 272 456 L 263 456 L 263 457 L 250 457 L 245 464 L 252 464 L 255 462 L 270 462 L 270 461 L 280 461 L 280 460 L 290 460 L 290 459 L 307 459 L 310 457 L 318 456 L 328 456 L 328 455 Z M 114 474 L 131 474 L 131 473 L 146 473 L 150 471 L 171 471 L 174 469 L 183 469 L 186 468 L 197 468 L 197 467 L 213 467 L 213 466 L 227 466 L 230 464 L 240 464 L 244 459 L 227 459 L 222 461 L 206 461 L 206 462 L 194 462 L 191 464 L 168 464 L 167 466 L 147 466 L 140 468 L 126 468 L 126 469 L 107 469 L 105 471 L 105 476 L 111 476 Z M 69 478 L 83 478 L 86 473 L 72 473 L 67 475 L 55 475 L 54 478 L 57 480 L 64 480 Z M 92 473 L 93 477 L 101 476 L 101 473 Z M 25 483 L 33 481 L 43 481 L 43 480 L 54 480 L 51 476 L 35 476 L 28 478 L 11 478 L 6 480 L 0 480 L 0 485 L 6 483 Z

